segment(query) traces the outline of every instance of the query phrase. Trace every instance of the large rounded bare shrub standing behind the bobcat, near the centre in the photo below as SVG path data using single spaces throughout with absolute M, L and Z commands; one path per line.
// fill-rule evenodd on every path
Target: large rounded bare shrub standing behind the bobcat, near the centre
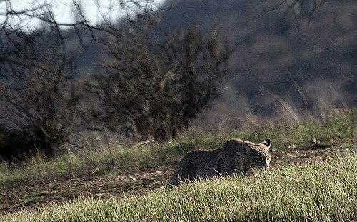
M 96 126 L 165 140 L 216 99 L 232 50 L 216 31 L 208 39 L 196 29 L 154 39 L 151 25 L 131 24 L 110 37 L 103 71 L 87 90 L 101 108 L 91 113 Z

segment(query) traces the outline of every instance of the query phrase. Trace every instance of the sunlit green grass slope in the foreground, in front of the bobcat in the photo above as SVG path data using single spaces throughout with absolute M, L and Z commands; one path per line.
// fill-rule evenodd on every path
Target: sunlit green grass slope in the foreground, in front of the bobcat
M 124 198 L 80 198 L 4 221 L 354 221 L 357 153 Z

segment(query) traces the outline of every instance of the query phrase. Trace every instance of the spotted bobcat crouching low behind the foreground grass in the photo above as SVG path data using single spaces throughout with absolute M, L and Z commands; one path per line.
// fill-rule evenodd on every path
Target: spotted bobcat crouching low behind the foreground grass
M 195 150 L 186 153 L 176 166 L 167 186 L 178 185 L 179 178 L 190 181 L 193 178 L 211 178 L 215 175 L 233 176 L 234 173 L 253 173 L 255 169 L 269 168 L 271 140 L 251 143 L 231 138 L 222 148 Z

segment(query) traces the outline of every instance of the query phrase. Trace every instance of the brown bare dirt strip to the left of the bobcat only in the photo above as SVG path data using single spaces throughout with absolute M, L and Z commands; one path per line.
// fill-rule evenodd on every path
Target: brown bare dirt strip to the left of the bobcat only
M 0 212 L 35 208 L 45 203 L 65 202 L 79 196 L 124 196 L 161 188 L 176 163 L 134 169 L 120 175 L 82 176 L 62 181 L 46 181 L 0 190 Z

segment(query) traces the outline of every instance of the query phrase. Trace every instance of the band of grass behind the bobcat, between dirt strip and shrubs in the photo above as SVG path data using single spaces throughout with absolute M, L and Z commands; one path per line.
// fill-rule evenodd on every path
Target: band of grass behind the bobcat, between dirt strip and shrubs
M 299 123 L 293 126 L 258 128 L 255 131 L 231 131 L 219 134 L 201 134 L 171 143 L 153 143 L 146 146 L 113 146 L 86 153 L 66 153 L 53 161 L 30 161 L 24 166 L 0 166 L 0 187 L 24 183 L 70 178 L 102 173 L 121 173 L 131 168 L 178 161 L 183 154 L 196 148 L 220 148 L 229 138 L 248 141 L 273 141 L 273 150 L 286 149 L 289 144 L 299 148 L 313 138 L 346 138 L 356 140 L 357 109 L 335 116 L 325 123 Z

